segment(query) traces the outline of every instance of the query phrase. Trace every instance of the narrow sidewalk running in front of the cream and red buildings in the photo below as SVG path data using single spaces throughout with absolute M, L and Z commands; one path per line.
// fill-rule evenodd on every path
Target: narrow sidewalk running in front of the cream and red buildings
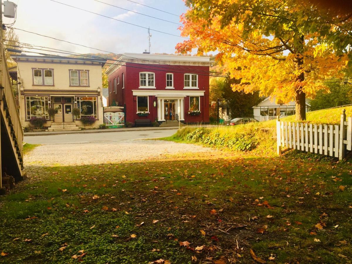
M 199 127 L 200 125 L 190 125 Z M 202 127 L 215 127 L 215 125 L 201 125 Z M 108 132 L 128 132 L 128 131 L 149 131 L 149 130 L 177 130 L 178 126 L 170 127 L 121 127 L 121 128 L 107 128 L 107 129 L 87 129 L 87 130 L 72 130 L 72 131 L 41 131 L 41 132 L 25 132 L 24 136 L 50 136 L 61 134 L 89 134 L 89 133 L 108 133 Z

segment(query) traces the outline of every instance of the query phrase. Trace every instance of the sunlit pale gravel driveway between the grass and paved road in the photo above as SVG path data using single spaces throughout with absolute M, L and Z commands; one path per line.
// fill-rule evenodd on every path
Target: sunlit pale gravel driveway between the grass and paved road
M 126 140 L 48 144 L 37 146 L 24 158 L 24 165 L 83 165 L 163 158 L 189 152 L 213 151 L 193 144 L 161 140 Z

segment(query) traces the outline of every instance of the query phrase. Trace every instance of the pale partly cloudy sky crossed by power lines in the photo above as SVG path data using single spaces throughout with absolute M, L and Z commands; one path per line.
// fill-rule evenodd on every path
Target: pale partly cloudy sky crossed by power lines
M 17 19 L 13 27 L 42 35 L 51 36 L 73 43 L 106 50 L 113 53 L 142 53 L 148 49 L 148 32 L 146 29 L 128 25 L 100 15 L 77 10 L 50 0 L 11 0 L 17 3 Z M 185 40 L 180 36 L 178 25 L 146 17 L 101 2 L 119 6 L 135 12 L 180 23 L 176 15 L 167 14 L 128 0 L 56 0 L 95 13 L 113 17 L 128 23 L 150 27 L 151 53 L 175 53 L 177 43 Z M 140 4 L 158 8 L 172 14 L 181 15 L 187 10 L 182 0 L 133 0 Z M 13 19 L 4 18 L 3 23 L 12 23 Z M 170 36 L 152 29 L 175 34 Z M 54 39 L 37 36 L 15 30 L 20 42 L 46 46 L 78 53 L 97 53 L 100 51 L 84 48 Z

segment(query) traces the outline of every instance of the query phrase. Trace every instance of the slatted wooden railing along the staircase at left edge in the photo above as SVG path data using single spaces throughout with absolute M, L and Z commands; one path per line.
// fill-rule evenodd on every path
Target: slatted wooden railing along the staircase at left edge
M 13 94 L 13 88 L 10 80 L 10 74 L 7 68 L 4 50 L 2 50 L 2 57 L 1 57 L 1 86 L 3 89 L 2 101 L 4 102 L 3 103 L 4 112 L 6 114 L 5 125 L 10 127 L 11 140 L 13 140 L 13 142 L 16 142 L 16 143 L 13 143 L 15 151 L 17 152 L 15 153 L 15 156 L 18 156 L 18 159 L 20 159 L 20 162 L 22 162 L 23 128 L 22 128 L 21 119 L 18 112 L 15 96 Z

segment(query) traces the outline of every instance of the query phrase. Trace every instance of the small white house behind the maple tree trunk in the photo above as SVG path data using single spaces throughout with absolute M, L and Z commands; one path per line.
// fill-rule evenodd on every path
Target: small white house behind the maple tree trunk
M 306 112 L 310 111 L 309 99 L 306 99 Z M 281 117 L 296 114 L 296 103 L 276 103 L 276 98 L 265 98 L 258 105 L 253 106 L 254 118 L 258 121 L 266 121 L 276 119 L 278 115 Z

